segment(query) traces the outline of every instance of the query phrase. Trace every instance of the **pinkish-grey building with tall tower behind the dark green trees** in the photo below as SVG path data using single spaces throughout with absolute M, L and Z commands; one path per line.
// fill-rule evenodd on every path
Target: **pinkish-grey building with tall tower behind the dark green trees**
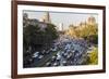
M 48 23 L 50 23 L 49 12 L 46 12 L 44 14 L 41 21 L 38 21 L 36 18 L 28 18 L 28 15 L 26 13 L 23 14 L 23 27 L 26 27 L 28 25 L 38 25 L 38 27 L 40 27 L 40 30 L 45 30 Z

